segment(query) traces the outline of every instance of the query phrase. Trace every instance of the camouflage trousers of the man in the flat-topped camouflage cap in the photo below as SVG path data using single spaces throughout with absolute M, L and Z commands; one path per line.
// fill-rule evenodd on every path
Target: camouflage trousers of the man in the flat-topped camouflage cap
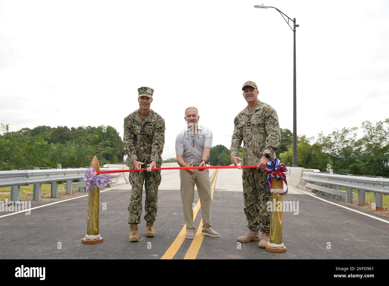
M 128 223 L 140 223 L 142 214 L 143 182 L 145 184 L 145 221 L 155 221 L 158 210 L 158 186 L 161 183 L 161 171 L 130 172 L 131 198 L 128 205 Z

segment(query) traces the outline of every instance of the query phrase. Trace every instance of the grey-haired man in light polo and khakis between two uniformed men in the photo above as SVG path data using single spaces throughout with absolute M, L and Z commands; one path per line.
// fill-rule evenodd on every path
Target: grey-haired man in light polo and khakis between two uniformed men
M 196 107 L 188 107 L 185 110 L 184 119 L 187 127 L 177 135 L 175 140 L 177 163 L 180 167 L 205 166 L 212 147 L 212 131 L 197 124 L 200 116 L 198 116 Z M 211 228 L 212 195 L 209 169 L 180 170 L 181 199 L 186 224 L 185 237 L 187 239 L 195 238 L 192 209 L 195 184 L 200 197 L 203 220 L 201 234 L 219 237 L 219 233 Z

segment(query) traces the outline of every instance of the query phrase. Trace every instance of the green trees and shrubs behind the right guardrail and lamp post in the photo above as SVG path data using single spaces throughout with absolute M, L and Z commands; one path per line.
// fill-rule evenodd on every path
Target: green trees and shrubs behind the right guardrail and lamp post
M 357 138 L 357 127 L 335 129 L 329 135 L 319 133 L 314 138 L 298 136 L 297 164 L 299 167 L 328 171 L 328 164 L 335 173 L 389 176 L 389 119 L 373 125 L 364 121 L 363 136 Z M 311 144 L 311 142 L 314 142 Z M 281 161 L 292 166 L 293 151 L 280 153 Z

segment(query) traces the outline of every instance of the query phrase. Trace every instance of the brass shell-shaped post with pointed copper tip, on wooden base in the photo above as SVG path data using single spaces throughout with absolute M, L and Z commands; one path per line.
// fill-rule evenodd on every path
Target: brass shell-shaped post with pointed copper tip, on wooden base
M 96 155 L 93 157 L 91 167 L 96 171 L 100 171 L 100 165 L 98 163 Z M 88 194 L 88 225 L 86 228 L 87 235 L 98 235 L 98 223 L 99 223 L 99 206 L 100 206 L 100 189 L 94 187 Z M 86 239 L 81 240 L 84 244 L 97 244 L 102 243 L 104 239 L 99 237 L 98 239 Z

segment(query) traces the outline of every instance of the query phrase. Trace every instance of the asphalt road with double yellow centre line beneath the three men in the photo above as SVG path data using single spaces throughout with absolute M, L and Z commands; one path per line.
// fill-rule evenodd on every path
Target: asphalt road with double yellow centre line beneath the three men
M 289 189 L 284 197 L 284 200 L 299 202 L 298 214 L 284 212 L 283 242 L 287 252 L 267 252 L 258 248 L 258 242 L 242 243 L 239 249 L 236 239 L 247 231 L 241 172 L 221 169 L 212 179 L 211 221 L 212 228 L 220 233 L 219 238 L 196 234 L 194 240 L 189 240 L 182 236 L 184 219 L 179 172 L 175 171 L 163 174 L 158 193 L 158 217 L 154 224 L 156 237 L 145 237 L 143 212 L 139 225 L 140 240 L 128 242 L 130 186 L 126 185 L 100 194 L 100 205 L 107 205 L 106 211 L 100 209 L 100 235 L 104 238 L 102 244 L 81 243 L 86 233 L 88 204 L 88 197 L 81 195 L 73 200 L 33 209 L 30 215 L 19 213 L 0 217 L 0 258 L 388 258 L 387 217 L 333 198 L 308 195 L 293 189 Z M 143 203 L 144 199 L 145 195 Z M 197 193 L 194 202 L 198 202 Z M 47 204 L 47 200 L 34 202 L 33 207 L 43 204 Z M 1 216 L 4 214 L 0 213 Z M 201 211 L 198 211 L 194 223 L 196 230 L 200 220 Z M 58 249 L 58 242 L 61 242 L 61 249 Z M 331 243 L 331 249 L 327 248 L 328 242 Z

